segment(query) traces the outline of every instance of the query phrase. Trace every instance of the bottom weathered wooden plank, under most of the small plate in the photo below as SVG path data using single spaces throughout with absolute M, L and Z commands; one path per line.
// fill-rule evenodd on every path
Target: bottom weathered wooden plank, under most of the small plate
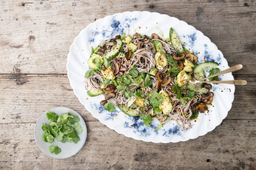
M 100 122 L 87 122 L 83 148 L 52 159 L 37 147 L 35 123 L 0 124 L 3 169 L 255 169 L 256 121 L 224 120 L 205 136 L 179 143 L 127 138 Z M 97 134 L 97 135 L 93 135 Z M 208 162 L 207 162 L 208 160 Z

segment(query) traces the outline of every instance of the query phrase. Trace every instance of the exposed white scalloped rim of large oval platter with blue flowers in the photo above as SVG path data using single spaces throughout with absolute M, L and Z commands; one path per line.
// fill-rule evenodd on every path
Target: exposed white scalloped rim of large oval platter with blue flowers
M 199 114 L 198 120 L 192 122 L 193 127 L 183 131 L 174 121 L 168 122 L 164 127 L 155 130 L 160 124 L 153 121 L 150 127 L 143 124 L 141 117 L 130 117 L 121 112 L 118 108 L 112 113 L 104 110 L 100 101 L 104 95 L 89 97 L 84 87 L 84 73 L 89 69 L 87 60 L 90 57 L 91 46 L 96 47 L 102 40 L 107 40 L 115 35 L 122 35 L 135 32 L 151 35 L 156 33 L 161 38 L 169 36 L 169 29 L 172 27 L 181 42 L 187 45 L 198 57 L 199 62 L 214 61 L 219 63 L 218 68 L 225 70 L 229 68 L 227 60 L 218 50 L 217 46 L 210 39 L 193 26 L 175 17 L 148 11 L 127 11 L 118 13 L 89 24 L 75 38 L 68 54 L 67 70 L 70 85 L 79 101 L 92 115 L 100 122 L 114 129 L 120 134 L 147 142 L 179 142 L 197 138 L 205 135 L 218 126 L 227 116 L 234 99 L 234 85 L 214 84 L 213 106 L 209 106 L 209 112 Z M 206 75 L 209 73 L 206 71 Z M 234 80 L 231 73 L 219 76 L 222 80 Z

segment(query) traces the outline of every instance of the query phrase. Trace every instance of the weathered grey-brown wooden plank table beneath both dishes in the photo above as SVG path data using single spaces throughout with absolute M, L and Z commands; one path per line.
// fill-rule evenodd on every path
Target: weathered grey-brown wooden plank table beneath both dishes
M 0 169 L 256 169 L 256 1 L 0 1 Z M 89 23 L 116 12 L 147 10 L 177 17 L 202 31 L 235 79 L 232 109 L 212 132 L 179 143 L 137 141 L 95 119 L 70 87 L 69 47 Z M 65 106 L 86 122 L 88 136 L 74 156 L 39 150 L 34 126 L 46 110 Z

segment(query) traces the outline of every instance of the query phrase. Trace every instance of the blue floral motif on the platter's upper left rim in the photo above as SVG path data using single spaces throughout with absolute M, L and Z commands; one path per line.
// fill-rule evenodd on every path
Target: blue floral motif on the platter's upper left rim
M 112 30 L 105 30 L 105 25 L 102 26 L 101 30 L 102 31 L 96 31 L 96 30 L 91 30 L 90 31 L 90 38 L 89 42 L 92 43 L 94 42 L 94 36 L 99 35 L 100 33 L 102 34 L 103 37 L 110 38 L 115 35 L 122 35 L 124 33 L 124 28 L 129 28 L 130 24 L 132 21 L 136 21 L 137 18 L 130 18 L 126 17 L 123 22 L 120 22 L 115 19 L 115 16 L 111 20 L 111 28 Z

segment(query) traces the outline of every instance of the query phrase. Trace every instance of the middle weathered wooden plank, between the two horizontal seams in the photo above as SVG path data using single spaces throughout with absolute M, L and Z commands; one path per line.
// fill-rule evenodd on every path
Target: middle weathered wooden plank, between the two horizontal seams
M 235 99 L 226 119 L 256 119 L 256 76 L 237 75 L 248 81 L 236 86 Z M 77 111 L 85 121 L 98 121 L 79 102 L 67 75 L 0 75 L 0 123 L 36 122 L 45 111 L 65 106 Z M 20 85 L 19 85 L 20 84 Z

